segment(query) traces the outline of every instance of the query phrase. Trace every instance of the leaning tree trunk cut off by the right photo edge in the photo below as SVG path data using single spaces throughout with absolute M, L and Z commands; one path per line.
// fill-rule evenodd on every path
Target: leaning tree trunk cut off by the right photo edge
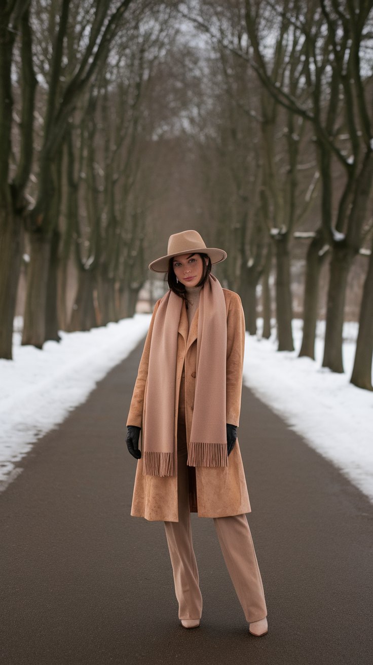
M 354 369 L 351 383 L 358 388 L 373 390 L 372 386 L 372 356 L 373 356 L 373 247 L 369 259 L 368 273 L 366 273 L 362 303 L 360 308 L 360 321 Z

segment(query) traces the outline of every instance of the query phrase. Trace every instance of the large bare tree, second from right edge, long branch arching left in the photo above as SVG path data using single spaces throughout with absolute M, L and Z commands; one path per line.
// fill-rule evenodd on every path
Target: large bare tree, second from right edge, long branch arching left
M 249 0 L 247 0 L 247 6 L 249 5 Z M 273 7 L 273 9 L 279 11 L 277 7 Z M 277 102 L 313 124 L 316 139 L 320 145 L 322 144 L 323 149 L 323 186 L 327 189 L 328 179 L 330 181 L 330 170 L 328 169 L 330 156 L 334 156 L 338 160 L 346 173 L 346 184 L 338 201 L 335 225 L 330 215 L 327 231 L 332 248 L 332 260 L 323 365 L 336 372 L 343 371 L 342 325 L 347 277 L 352 259 L 360 251 L 362 245 L 362 228 L 373 178 L 372 127 L 361 66 L 365 43 L 370 39 L 368 26 L 371 21 L 371 9 L 372 3 L 370 2 L 361 3 L 359 9 L 355 11 L 354 7 L 348 3 L 337 4 L 321 1 L 319 6 L 317 3 L 312 7 L 305 5 L 303 11 L 299 13 L 299 18 L 295 20 L 294 12 L 289 17 L 287 5 L 281 7 L 280 15 L 289 17 L 297 29 L 305 35 L 306 59 L 308 63 L 311 63 L 310 68 L 316 70 L 316 76 L 320 75 L 320 72 L 325 72 L 326 78 L 330 78 L 330 82 L 326 86 L 326 94 L 334 99 L 334 106 L 330 107 L 332 110 L 331 122 L 328 114 L 324 113 L 322 95 L 311 94 L 309 98 L 300 103 L 286 86 L 281 86 L 281 84 L 277 86 L 271 80 L 261 53 L 258 35 L 255 33 L 253 36 L 256 41 L 255 54 L 257 55 L 257 61 L 253 64 L 263 84 L 267 86 Z M 319 29 L 318 39 L 312 40 L 314 27 L 315 25 L 317 27 L 318 23 L 322 28 Z M 311 55 L 312 43 L 316 47 L 314 55 Z M 324 61 L 327 52 L 328 68 L 321 64 L 318 72 L 316 65 Z M 309 90 L 312 93 L 312 88 Z M 325 92 L 325 86 L 322 91 Z M 336 108 L 342 113 L 342 127 L 335 124 L 340 117 L 338 113 L 335 113 Z M 341 129 L 348 132 L 350 144 L 348 152 L 340 147 L 338 138 Z M 323 198 L 326 206 L 328 200 L 326 192 Z M 327 208 L 323 214 L 325 223 L 318 238 L 320 244 L 324 241 L 326 232 Z

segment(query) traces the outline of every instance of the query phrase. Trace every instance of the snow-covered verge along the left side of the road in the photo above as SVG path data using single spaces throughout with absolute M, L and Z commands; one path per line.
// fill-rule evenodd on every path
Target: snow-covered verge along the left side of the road
M 14 334 L 13 360 L 0 360 L 0 491 L 21 471 L 15 464 L 32 444 L 82 404 L 118 362 L 146 335 L 150 314 L 89 332 L 60 332 L 43 350 L 21 346 Z

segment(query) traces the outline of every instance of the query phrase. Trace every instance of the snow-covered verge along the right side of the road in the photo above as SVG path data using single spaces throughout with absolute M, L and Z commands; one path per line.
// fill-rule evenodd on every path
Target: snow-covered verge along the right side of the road
M 277 352 L 271 339 L 247 335 L 243 381 L 289 426 L 373 501 L 373 392 L 350 384 L 356 323 L 344 325 L 345 374 L 322 368 L 323 322 L 316 360 L 298 358 L 302 321 L 293 321 L 294 352 Z

